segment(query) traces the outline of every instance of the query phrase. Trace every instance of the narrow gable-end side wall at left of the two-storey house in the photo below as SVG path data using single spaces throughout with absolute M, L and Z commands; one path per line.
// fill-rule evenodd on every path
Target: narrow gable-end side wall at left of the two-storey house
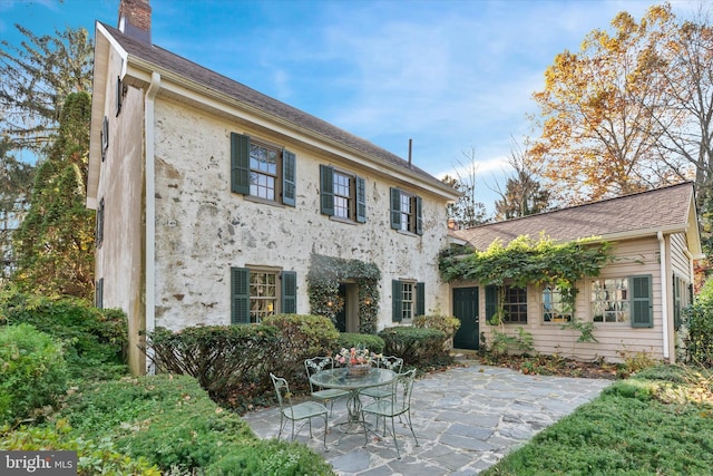
M 145 329 L 145 95 L 123 81 L 126 56 L 96 35 L 87 206 L 97 212 L 96 304 L 128 317 L 129 367 L 143 372 L 135 351 Z

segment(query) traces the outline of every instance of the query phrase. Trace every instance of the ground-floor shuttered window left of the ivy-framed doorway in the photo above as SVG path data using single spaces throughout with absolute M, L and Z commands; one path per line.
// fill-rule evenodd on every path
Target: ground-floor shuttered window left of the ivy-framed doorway
M 297 312 L 297 274 L 274 269 L 231 269 L 231 322 L 260 323 L 266 315 Z

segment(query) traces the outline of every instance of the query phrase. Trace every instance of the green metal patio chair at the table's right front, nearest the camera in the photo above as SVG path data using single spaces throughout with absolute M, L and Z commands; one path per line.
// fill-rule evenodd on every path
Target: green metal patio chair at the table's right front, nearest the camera
M 416 433 L 413 433 L 413 426 L 411 425 L 411 392 L 413 390 L 413 381 L 416 378 L 416 369 L 411 369 L 408 372 L 399 373 L 394 386 L 394 391 L 391 395 L 391 398 L 382 398 L 380 400 L 375 400 L 369 405 L 364 405 L 361 409 L 363 419 L 365 419 L 367 415 L 373 415 L 377 417 L 377 421 L 379 418 L 384 418 L 384 436 L 387 431 L 387 422 L 385 418 L 391 418 L 391 435 L 393 436 L 393 444 L 397 447 L 397 456 L 401 459 L 401 453 L 399 451 L 399 443 L 397 441 L 397 431 L 394 419 L 397 417 L 404 416 L 406 424 L 409 425 L 409 429 L 411 429 L 411 435 L 413 435 L 413 439 L 416 440 L 416 446 L 419 446 L 419 440 L 416 437 Z M 404 424 L 404 425 L 406 425 Z M 369 428 L 364 425 L 364 446 L 369 443 Z

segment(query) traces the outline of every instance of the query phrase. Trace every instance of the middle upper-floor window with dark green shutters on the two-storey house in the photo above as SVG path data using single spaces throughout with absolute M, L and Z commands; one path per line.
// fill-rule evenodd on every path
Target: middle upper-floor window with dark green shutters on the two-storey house
M 324 215 L 367 221 L 367 186 L 362 177 L 320 165 L 320 211 Z

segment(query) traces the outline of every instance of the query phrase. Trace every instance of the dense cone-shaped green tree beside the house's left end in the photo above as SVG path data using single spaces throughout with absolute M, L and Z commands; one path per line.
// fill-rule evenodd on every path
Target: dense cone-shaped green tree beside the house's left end
M 25 291 L 91 298 L 94 212 L 85 206 L 91 98 L 70 94 L 59 135 L 38 167 L 30 208 L 14 233 L 13 282 Z

